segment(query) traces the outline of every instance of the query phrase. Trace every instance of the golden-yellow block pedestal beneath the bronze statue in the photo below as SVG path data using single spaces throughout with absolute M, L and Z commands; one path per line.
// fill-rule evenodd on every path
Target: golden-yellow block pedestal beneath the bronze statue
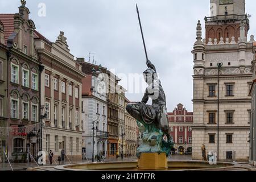
M 144 170 L 167 169 L 166 153 L 141 153 L 138 159 L 138 168 Z

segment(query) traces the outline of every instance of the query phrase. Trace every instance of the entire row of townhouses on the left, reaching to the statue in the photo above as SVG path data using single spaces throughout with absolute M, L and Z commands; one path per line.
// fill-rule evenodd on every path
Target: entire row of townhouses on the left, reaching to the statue
M 51 42 L 19 13 L 0 14 L 0 154 L 10 161 L 49 151 L 55 160 L 136 154 L 138 127 L 120 79 L 74 59 L 64 32 Z M 0 162 L 1 162 L 0 161 Z M 24 162 L 24 161 L 23 161 Z

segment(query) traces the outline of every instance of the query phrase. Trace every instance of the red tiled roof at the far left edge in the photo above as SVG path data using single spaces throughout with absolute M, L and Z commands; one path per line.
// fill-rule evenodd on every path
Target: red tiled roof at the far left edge
M 5 27 L 5 45 L 10 35 L 14 32 L 14 14 L 0 14 L 0 20 Z

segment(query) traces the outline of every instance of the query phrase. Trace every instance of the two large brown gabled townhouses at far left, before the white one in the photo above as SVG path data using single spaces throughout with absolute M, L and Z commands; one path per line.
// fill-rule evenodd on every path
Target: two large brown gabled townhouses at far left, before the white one
M 0 150 L 10 161 L 81 159 L 81 86 L 85 74 L 60 32 L 50 42 L 35 30 L 22 1 L 19 13 L 0 14 Z

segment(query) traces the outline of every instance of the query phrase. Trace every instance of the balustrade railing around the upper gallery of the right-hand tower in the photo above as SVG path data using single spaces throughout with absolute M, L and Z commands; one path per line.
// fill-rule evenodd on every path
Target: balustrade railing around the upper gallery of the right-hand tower
M 245 15 L 218 15 L 218 16 L 205 16 L 205 22 L 216 22 L 216 21 L 225 21 L 225 20 L 249 20 L 247 14 Z

